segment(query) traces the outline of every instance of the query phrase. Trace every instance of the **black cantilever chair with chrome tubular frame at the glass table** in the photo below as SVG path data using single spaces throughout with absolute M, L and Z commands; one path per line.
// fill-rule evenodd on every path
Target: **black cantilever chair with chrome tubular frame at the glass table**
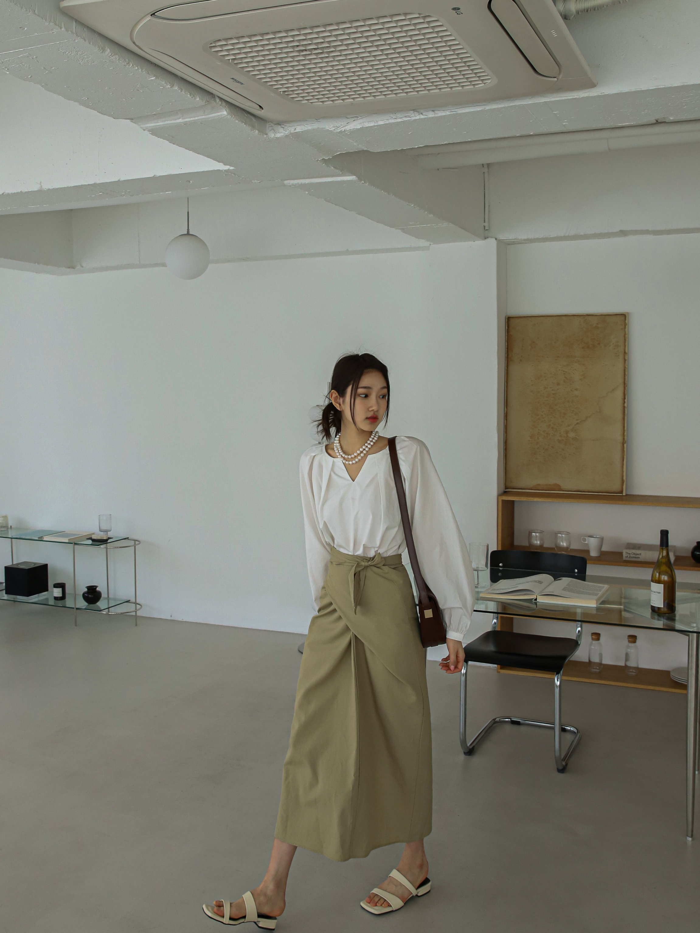
M 586 578 L 586 559 L 572 554 L 549 553 L 542 550 L 494 550 L 489 562 L 492 583 L 499 579 L 525 577 L 544 573 L 553 577 Z M 581 622 L 576 626 L 576 638 L 553 638 L 549 635 L 530 635 L 519 632 L 498 632 L 498 615 L 490 632 L 485 632 L 464 648 L 465 661 L 462 668 L 459 691 L 460 718 L 459 743 L 465 755 L 471 755 L 488 731 L 499 722 L 510 722 L 513 726 L 538 726 L 554 731 L 554 761 L 556 770 L 564 773 L 568 759 L 581 741 L 581 732 L 575 726 L 562 725 L 561 683 L 562 671 L 569 658 L 581 647 Z M 501 664 L 504 667 L 518 667 L 525 671 L 549 671 L 554 675 L 554 721 L 539 722 L 535 719 L 521 719 L 509 716 L 497 716 L 489 719 L 483 729 L 467 741 L 467 668 L 469 661 L 481 661 L 484 664 Z M 573 739 L 562 755 L 562 732 L 570 732 Z

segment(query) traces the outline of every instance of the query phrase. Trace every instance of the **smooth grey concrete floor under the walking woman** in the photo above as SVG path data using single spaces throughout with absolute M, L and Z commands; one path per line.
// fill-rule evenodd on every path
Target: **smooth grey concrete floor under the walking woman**
M 78 619 L 0 605 L 0 929 L 214 933 L 203 900 L 267 864 L 300 636 Z M 682 696 L 566 683 L 583 739 L 561 775 L 546 731 L 502 726 L 464 758 L 458 678 L 428 668 L 432 893 L 374 917 L 357 901 L 399 846 L 343 864 L 300 850 L 280 931 L 697 930 Z M 470 733 L 550 718 L 552 683 L 476 668 L 469 703 Z

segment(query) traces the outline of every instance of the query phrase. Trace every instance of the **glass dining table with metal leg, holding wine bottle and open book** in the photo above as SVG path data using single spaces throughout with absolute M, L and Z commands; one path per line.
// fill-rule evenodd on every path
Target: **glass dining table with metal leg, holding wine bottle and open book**
M 493 571 L 492 571 L 493 572 Z M 531 572 L 506 571 L 503 577 L 531 576 Z M 609 592 L 595 607 L 552 606 L 535 600 L 495 600 L 482 597 L 491 583 L 477 588 L 474 611 L 491 616 L 492 628 L 498 626 L 499 617 L 512 619 L 540 619 L 572 622 L 581 632 L 584 622 L 593 625 L 616 625 L 623 628 L 653 629 L 660 632 L 678 632 L 688 637 L 688 687 L 686 731 L 686 836 L 693 839 L 695 803 L 695 774 L 700 766 L 698 742 L 698 634 L 700 634 L 700 586 L 679 583 L 676 594 L 676 612 L 661 616 L 651 610 L 649 583 L 619 577 L 586 575 L 591 583 L 606 583 Z M 464 676 L 464 672 L 463 672 Z M 591 679 L 594 679 L 593 677 Z

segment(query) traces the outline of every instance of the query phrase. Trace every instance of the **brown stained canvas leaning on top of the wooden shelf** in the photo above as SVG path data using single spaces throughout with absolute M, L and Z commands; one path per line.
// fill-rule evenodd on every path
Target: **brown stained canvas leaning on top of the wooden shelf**
M 626 314 L 506 320 L 506 489 L 624 493 Z

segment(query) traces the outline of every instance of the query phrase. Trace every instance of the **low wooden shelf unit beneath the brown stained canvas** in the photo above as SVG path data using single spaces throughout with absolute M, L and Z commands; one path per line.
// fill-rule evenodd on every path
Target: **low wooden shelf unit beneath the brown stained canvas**
M 553 548 L 532 549 L 514 543 L 515 503 L 516 502 L 581 502 L 608 506 L 655 506 L 661 508 L 700 508 L 700 497 L 688 495 L 607 495 L 602 493 L 550 493 L 550 492 L 506 492 L 498 496 L 497 510 L 497 546 L 498 550 L 549 550 Z M 589 564 L 603 564 L 612 567 L 638 567 L 651 569 L 653 564 L 642 561 L 624 561 L 621 550 L 604 550 L 600 557 L 591 557 L 587 550 L 571 549 L 570 554 L 585 557 Z M 691 557 L 677 554 L 674 561 L 677 570 L 700 570 Z M 513 617 L 499 616 L 498 628 L 501 631 L 513 631 Z M 499 667 L 507 674 L 522 674 L 537 677 L 553 675 L 543 671 L 520 671 L 516 668 Z M 585 661 L 568 661 L 564 668 L 565 680 L 580 680 L 592 684 L 612 684 L 618 687 L 637 687 L 650 690 L 667 690 L 672 693 L 685 693 L 684 684 L 672 680 L 668 671 L 640 668 L 636 677 L 625 674 L 624 668 L 616 664 L 604 664 L 599 674 L 588 670 Z

